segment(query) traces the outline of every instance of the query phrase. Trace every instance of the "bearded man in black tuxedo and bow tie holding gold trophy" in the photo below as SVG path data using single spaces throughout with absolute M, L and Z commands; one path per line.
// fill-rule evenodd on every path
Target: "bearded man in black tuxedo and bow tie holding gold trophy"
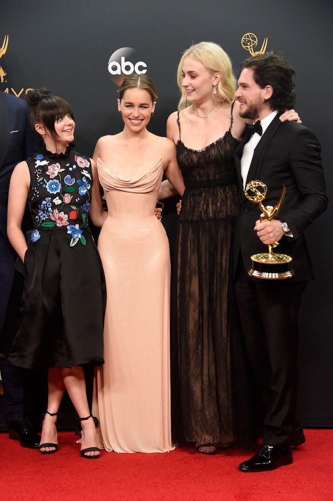
M 295 122 L 280 122 L 293 107 L 294 70 L 277 53 L 257 55 L 241 65 L 239 114 L 253 120 L 235 152 L 241 200 L 234 239 L 234 278 L 248 358 L 266 414 L 263 445 L 238 468 L 265 471 L 292 462 L 291 447 L 305 441 L 296 421 L 297 315 L 306 282 L 313 278 L 303 236 L 327 205 L 320 144 Z M 254 129 L 254 130 L 253 130 Z M 247 182 L 259 179 L 268 191 L 264 205 L 274 206 L 283 184 L 286 194 L 279 219 L 260 222 L 259 207 L 244 196 Z M 292 257 L 294 277 L 249 277 L 250 256 L 267 252 Z

